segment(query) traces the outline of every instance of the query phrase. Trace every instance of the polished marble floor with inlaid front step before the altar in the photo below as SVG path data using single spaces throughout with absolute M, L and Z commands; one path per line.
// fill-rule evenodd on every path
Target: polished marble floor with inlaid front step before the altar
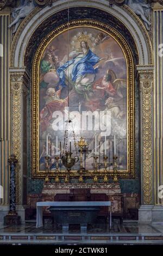
M 35 223 L 0 226 L 0 244 L 150 244 L 163 245 L 163 225 L 114 222 L 111 230 L 105 224 L 89 225 L 86 233 L 80 233 L 78 225 L 71 225 L 68 233 L 62 233 L 53 224 L 46 223 L 36 228 Z

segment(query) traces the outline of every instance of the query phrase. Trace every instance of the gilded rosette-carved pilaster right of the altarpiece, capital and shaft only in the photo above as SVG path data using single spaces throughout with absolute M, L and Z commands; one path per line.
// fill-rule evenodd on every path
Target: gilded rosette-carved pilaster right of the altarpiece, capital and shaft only
M 147 67 L 148 68 L 148 67 Z M 152 97 L 153 70 L 140 70 L 142 113 L 143 204 L 152 204 Z

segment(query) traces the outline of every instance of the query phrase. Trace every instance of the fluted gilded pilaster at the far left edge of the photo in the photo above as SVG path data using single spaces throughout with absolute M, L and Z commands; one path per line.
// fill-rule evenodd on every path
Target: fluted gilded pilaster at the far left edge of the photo
M 8 212 L 9 204 L 9 164 L 10 154 L 10 13 L 0 13 L 0 185 L 3 198 L 0 198 L 0 223 Z

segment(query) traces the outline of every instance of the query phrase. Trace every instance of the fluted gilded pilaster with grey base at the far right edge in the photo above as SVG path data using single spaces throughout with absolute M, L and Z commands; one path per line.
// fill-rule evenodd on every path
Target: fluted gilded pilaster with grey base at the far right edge
M 152 221 L 163 222 L 163 6 L 153 4 L 154 52 L 154 207 Z

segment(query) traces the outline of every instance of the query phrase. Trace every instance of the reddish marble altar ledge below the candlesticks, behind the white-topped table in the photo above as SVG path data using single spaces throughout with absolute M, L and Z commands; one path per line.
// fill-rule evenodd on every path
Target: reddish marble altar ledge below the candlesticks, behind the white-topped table
M 94 194 L 93 200 L 108 200 L 111 202 L 112 213 L 123 214 L 123 194 L 121 193 L 120 184 L 54 184 L 45 183 L 43 184 L 41 200 L 42 201 L 57 201 L 58 196 L 61 194 L 83 194 L 84 191 Z M 92 196 L 91 196 L 92 197 Z M 95 198 L 95 199 L 94 199 Z M 72 199 L 76 200 L 76 199 Z M 88 200 L 91 200 L 88 199 Z M 38 201 L 37 201 L 38 202 Z

